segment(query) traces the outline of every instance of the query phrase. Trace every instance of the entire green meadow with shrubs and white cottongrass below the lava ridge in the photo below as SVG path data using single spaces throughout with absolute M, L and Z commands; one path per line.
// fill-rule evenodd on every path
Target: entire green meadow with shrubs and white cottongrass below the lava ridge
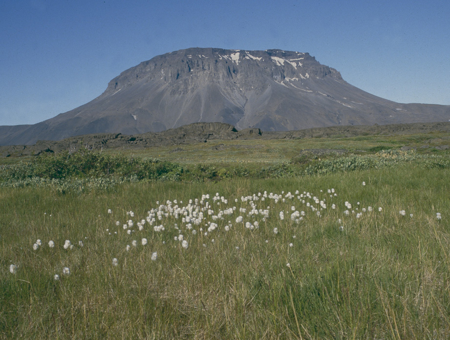
M 447 136 L 377 138 L 7 160 L 0 338 L 448 339 Z

